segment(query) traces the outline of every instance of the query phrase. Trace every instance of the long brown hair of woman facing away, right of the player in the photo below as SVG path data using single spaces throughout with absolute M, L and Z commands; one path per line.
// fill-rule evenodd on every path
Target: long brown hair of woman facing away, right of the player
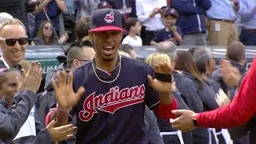
M 204 81 L 204 78 L 195 66 L 192 54 L 188 51 L 181 50 L 178 51 L 177 55 L 178 61 L 175 65 L 175 70 L 186 70 L 192 74 L 198 80 L 198 88 L 202 90 L 202 82 Z

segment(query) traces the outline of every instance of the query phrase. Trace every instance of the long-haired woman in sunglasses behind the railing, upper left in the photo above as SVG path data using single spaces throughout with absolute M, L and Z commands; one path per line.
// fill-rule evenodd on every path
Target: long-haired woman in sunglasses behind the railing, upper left
M 57 35 L 49 21 L 42 22 L 39 26 L 38 36 L 34 38 L 35 45 L 58 45 L 64 44 L 68 38 L 68 35 L 64 33 L 58 40 Z

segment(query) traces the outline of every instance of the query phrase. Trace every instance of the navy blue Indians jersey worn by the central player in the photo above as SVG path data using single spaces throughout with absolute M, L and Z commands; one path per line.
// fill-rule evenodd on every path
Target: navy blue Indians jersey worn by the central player
M 110 77 L 97 71 L 102 77 Z M 80 86 L 86 89 L 74 107 L 78 118 L 76 143 L 147 143 L 145 104 L 152 109 L 159 102 L 158 93 L 148 84 L 148 74 L 154 74 L 149 65 L 125 57 L 118 79 L 111 83 L 98 80 L 92 62 L 75 70 L 74 91 Z M 113 70 L 109 80 L 117 75 L 118 70 Z

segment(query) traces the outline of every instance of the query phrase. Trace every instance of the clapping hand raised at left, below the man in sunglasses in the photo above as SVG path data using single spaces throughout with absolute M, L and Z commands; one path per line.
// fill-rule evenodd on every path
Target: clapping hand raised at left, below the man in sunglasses
M 32 62 L 30 70 L 26 73 L 22 71 L 23 82 L 18 80 L 19 90 L 30 90 L 36 93 L 41 85 L 42 68 L 40 62 Z M 26 76 L 24 76 L 26 75 Z

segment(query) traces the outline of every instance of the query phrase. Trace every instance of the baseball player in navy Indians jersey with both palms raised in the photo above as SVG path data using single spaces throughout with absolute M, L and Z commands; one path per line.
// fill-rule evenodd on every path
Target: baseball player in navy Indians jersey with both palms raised
M 148 143 L 145 105 L 159 118 L 176 117 L 170 113 L 178 106 L 171 92 L 172 68 L 161 63 L 153 70 L 118 54 L 125 31 L 121 18 L 118 10 L 95 11 L 90 19 L 94 58 L 70 72 L 67 81 L 64 71 L 52 81 L 58 108 L 48 116 L 62 126 L 69 112 L 76 114 L 76 143 Z

